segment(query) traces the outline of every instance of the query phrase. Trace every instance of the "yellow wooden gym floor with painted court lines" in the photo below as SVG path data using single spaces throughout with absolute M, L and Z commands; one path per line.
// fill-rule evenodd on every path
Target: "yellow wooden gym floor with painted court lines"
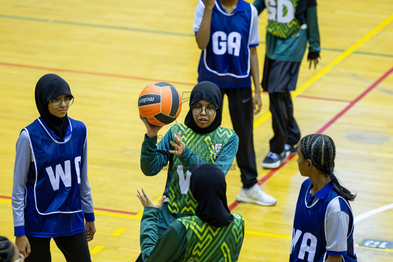
M 151 82 L 169 82 L 181 93 L 196 84 L 196 2 L 2 1 L 0 235 L 15 239 L 10 199 L 15 142 L 20 130 L 39 116 L 35 84 L 42 75 L 57 73 L 75 96 L 68 115 L 88 128 L 88 176 L 97 227 L 89 242 L 92 261 L 134 261 L 140 253 L 143 210 L 136 189 L 144 187 L 155 199 L 166 179 L 165 171 L 146 177 L 140 170 L 145 127 L 137 99 Z M 303 61 L 293 93 L 294 114 L 303 135 L 323 132 L 336 143 L 337 176 L 358 194 L 351 205 L 359 261 L 393 261 L 393 2 L 318 4 L 322 59 L 317 70 L 309 70 Z M 266 20 L 264 11 L 259 17 L 260 71 Z M 241 186 L 237 169 L 226 176 L 228 205 L 245 219 L 239 261 L 287 261 L 304 178 L 296 156 L 280 169 L 261 169 L 272 137 L 266 93 L 262 99 L 254 124 L 258 179 L 278 202 L 274 207 L 235 202 Z M 227 105 L 224 101 L 222 125 L 231 128 Z M 186 112 L 184 106 L 179 123 Z M 65 261 L 54 244 L 52 257 Z

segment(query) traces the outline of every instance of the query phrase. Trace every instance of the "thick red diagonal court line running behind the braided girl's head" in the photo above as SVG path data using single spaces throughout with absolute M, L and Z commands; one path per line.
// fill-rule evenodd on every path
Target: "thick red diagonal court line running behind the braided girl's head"
M 360 99 L 362 99 L 365 95 L 367 95 L 367 93 L 369 93 L 371 90 L 373 90 L 373 88 L 375 88 L 382 80 L 384 80 L 392 72 L 393 72 L 393 68 L 391 68 L 384 75 L 382 75 L 382 77 L 380 77 L 376 82 L 374 82 L 371 86 L 369 86 L 369 88 L 367 88 L 363 93 L 361 93 L 358 97 L 356 97 L 356 99 L 351 101 L 347 107 L 345 107 L 340 113 L 338 113 L 329 122 L 327 122 L 326 125 L 324 125 L 320 130 L 318 130 L 316 132 L 316 134 L 321 134 L 323 131 L 325 131 L 329 126 L 331 126 L 334 122 L 336 122 L 337 119 L 339 119 L 345 112 L 347 112 L 352 106 L 354 106 L 354 104 L 356 104 Z M 268 178 L 273 176 L 275 174 L 275 172 L 277 172 L 279 169 L 281 169 L 281 167 L 285 166 L 285 164 L 288 163 L 288 161 L 290 159 L 292 159 L 294 156 L 296 156 L 296 155 L 293 154 L 293 155 L 289 156 L 289 158 L 286 159 L 286 161 L 280 167 L 278 167 L 277 169 L 272 169 L 270 172 L 268 172 L 268 174 L 266 174 L 261 180 L 258 181 L 258 185 L 262 185 L 266 180 L 268 180 Z M 238 201 L 233 202 L 229 206 L 229 210 L 232 210 L 235 207 L 237 207 L 237 205 L 239 205 L 239 203 L 240 202 L 238 202 Z

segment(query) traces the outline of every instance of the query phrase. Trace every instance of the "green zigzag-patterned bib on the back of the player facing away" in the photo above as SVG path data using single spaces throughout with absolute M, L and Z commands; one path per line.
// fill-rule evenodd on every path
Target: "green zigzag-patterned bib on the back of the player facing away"
M 184 262 L 235 262 L 239 258 L 244 236 L 244 219 L 238 213 L 225 227 L 213 227 L 198 216 L 178 218 L 185 226 L 187 248 Z

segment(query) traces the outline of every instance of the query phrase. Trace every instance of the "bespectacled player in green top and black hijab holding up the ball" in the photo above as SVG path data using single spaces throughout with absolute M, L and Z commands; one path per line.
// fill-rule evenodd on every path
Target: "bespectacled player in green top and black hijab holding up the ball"
M 168 170 L 163 196 L 167 196 L 158 219 L 158 235 L 177 218 L 195 214 L 195 198 L 191 195 L 191 173 L 200 163 L 212 163 L 224 174 L 231 169 L 239 138 L 233 130 L 222 128 L 222 98 L 219 87 L 209 81 L 196 84 L 190 94 L 189 112 L 184 124 L 171 129 L 157 144 L 154 126 L 142 119 L 147 128 L 141 150 L 141 169 L 154 176 L 163 167 Z M 174 143 L 173 141 L 176 141 Z

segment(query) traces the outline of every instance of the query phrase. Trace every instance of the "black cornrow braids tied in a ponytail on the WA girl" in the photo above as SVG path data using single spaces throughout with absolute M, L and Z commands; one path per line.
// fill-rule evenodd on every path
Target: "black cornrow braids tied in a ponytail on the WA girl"
M 353 201 L 356 194 L 352 194 L 343 187 L 334 175 L 334 159 L 336 158 L 336 146 L 331 137 L 322 134 L 307 135 L 301 139 L 301 152 L 316 169 L 327 172 L 333 183 L 334 190 L 348 201 Z

